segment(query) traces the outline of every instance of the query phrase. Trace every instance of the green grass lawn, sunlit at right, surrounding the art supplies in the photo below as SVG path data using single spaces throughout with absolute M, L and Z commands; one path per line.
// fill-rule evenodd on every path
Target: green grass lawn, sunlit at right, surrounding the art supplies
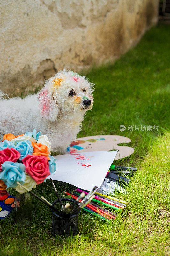
M 78 137 L 115 134 L 129 137 L 132 156 L 115 165 L 137 166 L 127 188 L 129 199 L 123 215 L 113 223 L 84 213 L 75 237 L 52 237 L 51 214 L 33 198 L 33 223 L 19 228 L 13 218 L 0 221 L 0 255 L 168 255 L 170 246 L 170 26 L 152 28 L 135 49 L 113 65 L 94 68 L 87 77 L 95 83 L 94 108 L 88 111 Z M 120 132 L 120 125 L 126 131 Z M 134 125 L 133 131 L 128 126 Z M 139 131 L 135 130 L 139 126 Z M 141 125 L 159 126 L 141 131 Z M 135 130 L 135 131 L 134 131 Z M 169 145 L 170 146 L 170 145 Z M 73 186 L 56 182 L 60 196 Z M 14 190 L 10 190 L 15 194 Z M 55 199 L 51 183 L 34 191 L 49 201 Z

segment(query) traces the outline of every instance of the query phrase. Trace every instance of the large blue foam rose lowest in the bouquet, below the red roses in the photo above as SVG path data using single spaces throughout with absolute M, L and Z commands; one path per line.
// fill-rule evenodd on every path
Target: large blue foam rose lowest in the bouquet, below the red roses
M 4 181 L 7 188 L 17 187 L 17 181 L 22 185 L 25 183 L 25 165 L 20 163 L 13 163 L 5 161 L 2 165 L 2 172 L 0 172 L 0 180 Z

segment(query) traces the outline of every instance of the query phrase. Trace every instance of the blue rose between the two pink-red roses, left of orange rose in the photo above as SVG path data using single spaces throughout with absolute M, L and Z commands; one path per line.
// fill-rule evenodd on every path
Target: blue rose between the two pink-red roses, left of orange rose
M 16 144 L 15 149 L 21 154 L 20 160 L 26 157 L 27 155 L 33 155 L 33 146 L 31 141 L 24 140 Z

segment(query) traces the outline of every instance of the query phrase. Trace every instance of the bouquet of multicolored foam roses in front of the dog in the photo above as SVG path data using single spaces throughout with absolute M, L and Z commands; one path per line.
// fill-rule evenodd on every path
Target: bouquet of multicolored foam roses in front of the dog
M 19 193 L 46 182 L 47 176 L 56 171 L 56 159 L 51 154 L 50 142 L 41 132 L 26 132 L 14 136 L 5 134 L 0 142 L 0 192 L 14 188 Z

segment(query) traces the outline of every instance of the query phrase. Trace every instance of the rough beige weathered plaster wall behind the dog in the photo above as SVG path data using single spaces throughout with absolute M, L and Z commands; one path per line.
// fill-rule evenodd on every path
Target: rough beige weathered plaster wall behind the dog
M 157 23 L 159 0 L 1 0 L 0 89 L 114 60 Z

